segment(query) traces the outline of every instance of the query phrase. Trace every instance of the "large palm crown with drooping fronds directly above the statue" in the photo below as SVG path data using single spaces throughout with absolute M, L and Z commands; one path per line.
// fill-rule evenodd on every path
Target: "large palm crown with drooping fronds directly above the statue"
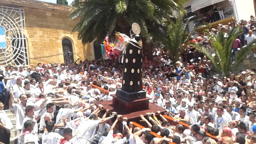
M 158 30 L 163 20 L 170 20 L 173 10 L 182 11 L 186 0 L 75 0 L 70 20 L 80 18 L 72 32 L 78 31 L 83 43 L 113 35 L 115 31 L 129 34 L 132 23 L 140 25 L 144 38 Z M 160 31 L 160 30 L 159 30 Z M 157 33 L 154 37 L 158 37 Z

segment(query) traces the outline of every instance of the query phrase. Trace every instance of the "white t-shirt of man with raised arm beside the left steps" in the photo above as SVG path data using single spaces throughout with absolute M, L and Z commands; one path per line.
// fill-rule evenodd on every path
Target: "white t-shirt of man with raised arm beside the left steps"
M 22 124 L 25 116 L 25 108 L 21 103 L 13 103 L 12 108 L 10 110 L 15 112 L 16 116 L 16 129 L 21 130 L 22 129 Z

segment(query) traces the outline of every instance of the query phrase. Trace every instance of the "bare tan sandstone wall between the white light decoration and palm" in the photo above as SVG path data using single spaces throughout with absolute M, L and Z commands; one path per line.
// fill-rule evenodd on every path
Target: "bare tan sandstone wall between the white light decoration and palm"
M 12 0 L 4 1 L 10 2 Z M 81 40 L 77 40 L 78 32 L 71 34 L 72 29 L 78 22 L 78 19 L 68 20 L 71 7 L 34 0 L 17 0 L 16 2 L 19 1 L 21 4 L 3 5 L 24 9 L 30 65 L 35 66 L 39 62 L 54 63 L 55 61 L 63 63 L 63 38 L 68 38 L 71 41 L 74 60 L 78 58 L 82 60 L 95 59 L 93 44 L 82 44 Z M 28 6 L 24 6 L 22 1 L 28 3 Z M 34 4 L 35 7 L 31 4 Z

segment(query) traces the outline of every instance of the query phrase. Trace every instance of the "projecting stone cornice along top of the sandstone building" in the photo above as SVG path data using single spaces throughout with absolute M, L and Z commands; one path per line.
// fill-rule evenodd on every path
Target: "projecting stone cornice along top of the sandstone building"
M 11 5 L 17 5 L 17 6 L 24 6 L 24 7 L 52 10 L 52 11 L 61 11 L 61 12 L 67 12 L 67 13 L 69 13 L 70 9 L 72 8 L 68 5 L 52 4 L 52 3 L 41 2 L 36 0 L 1 0 L 0 4 L 11 4 Z

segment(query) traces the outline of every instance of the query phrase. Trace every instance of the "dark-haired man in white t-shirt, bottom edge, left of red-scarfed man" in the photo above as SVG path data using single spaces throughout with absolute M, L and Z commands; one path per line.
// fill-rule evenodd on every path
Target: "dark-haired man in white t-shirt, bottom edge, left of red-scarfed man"
M 42 135 L 42 144 L 60 144 L 60 140 L 63 138 L 59 133 L 52 132 L 54 122 L 48 122 L 46 124 L 46 132 Z

